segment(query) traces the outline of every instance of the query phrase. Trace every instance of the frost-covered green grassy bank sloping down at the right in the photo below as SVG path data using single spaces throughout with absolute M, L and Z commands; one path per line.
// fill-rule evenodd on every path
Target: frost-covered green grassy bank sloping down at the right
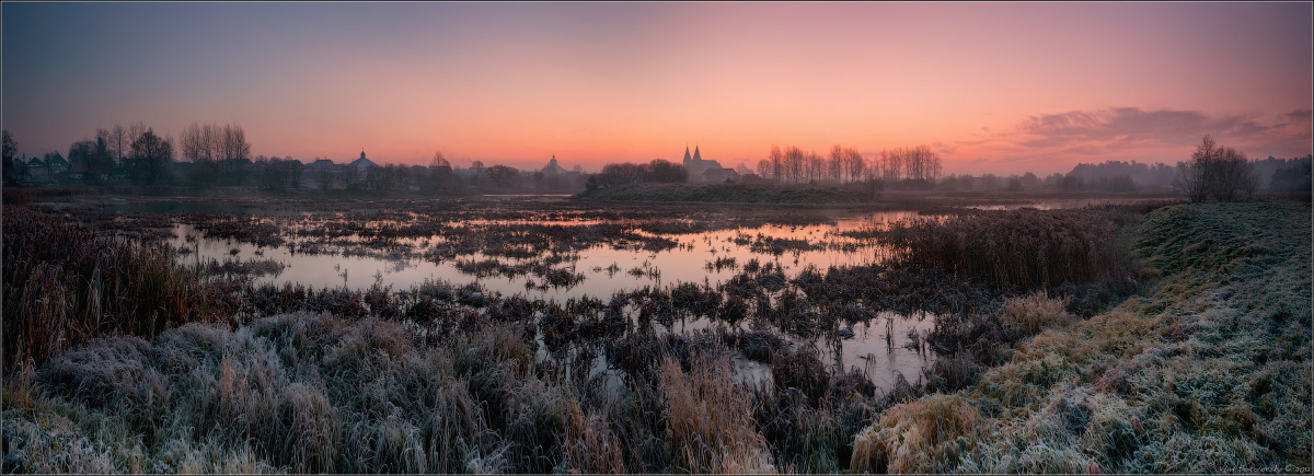
M 853 468 L 1309 471 L 1307 205 L 1164 208 L 1133 241 L 1158 276 L 1144 296 L 1059 327 L 1058 302 L 1008 301 L 1001 323 L 1050 329 L 974 387 L 887 410 L 854 438 Z

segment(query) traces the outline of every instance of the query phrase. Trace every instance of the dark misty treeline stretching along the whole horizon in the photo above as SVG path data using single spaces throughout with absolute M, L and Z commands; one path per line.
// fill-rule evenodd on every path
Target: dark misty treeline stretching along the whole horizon
M 1223 150 L 1231 150 L 1223 147 Z M 237 124 L 197 122 L 184 128 L 175 141 L 159 135 L 145 124 L 116 124 L 96 130 L 95 139 L 72 143 L 67 156 L 58 151 L 35 158 L 17 158 L 17 143 L 4 131 L 4 183 L 55 185 L 135 185 L 143 191 L 159 187 L 259 187 L 268 192 L 297 189 L 449 193 L 576 193 L 585 189 L 629 187 L 644 183 L 698 181 L 679 163 L 653 159 L 648 163 L 608 163 L 598 174 L 585 174 L 578 166 L 565 171 L 552 162 L 543 170 L 522 171 L 474 160 L 469 168 L 453 168 L 442 153 L 428 166 L 376 164 L 369 160 L 335 163 L 315 158 L 310 163 L 292 156 L 251 156 L 251 143 Z M 1231 150 L 1235 174 L 1246 174 L 1238 188 L 1252 192 L 1310 193 L 1311 155 L 1303 158 L 1250 160 Z M 364 159 L 364 155 L 361 156 Z M 1240 162 L 1244 162 L 1244 166 Z M 1206 160 L 1208 162 L 1208 160 Z M 928 145 L 884 149 L 863 155 L 854 147 L 834 145 L 829 154 L 805 151 L 799 146 L 771 146 L 757 162 L 756 174 L 742 164 L 727 181 L 742 184 L 861 184 L 869 193 L 894 191 L 943 192 L 1137 192 L 1169 191 L 1198 197 L 1180 183 L 1184 171 L 1204 174 L 1192 158 L 1176 164 L 1105 160 L 1080 163 L 1067 174 L 1038 176 L 945 175 L 942 159 Z M 1221 166 L 1214 166 L 1214 168 Z M 1210 172 L 1213 174 L 1213 172 Z M 1223 172 L 1219 172 L 1223 174 Z M 1212 178 L 1215 176 L 1210 175 Z M 1227 175 L 1227 174 L 1223 174 Z M 1252 176 L 1251 176 L 1252 175 Z M 1231 175 L 1227 175 L 1231 176 Z M 1251 180 L 1252 179 L 1252 180 Z M 719 179 L 717 179 L 719 180 Z M 1202 179 L 1201 179 L 1202 180 Z M 1213 180 L 1213 179 L 1210 179 Z M 1215 193 L 1217 195 L 1217 193 Z M 1235 193 L 1233 193 L 1235 195 Z M 1210 196 L 1210 193 L 1205 193 Z M 1219 195 L 1226 199 L 1226 192 Z

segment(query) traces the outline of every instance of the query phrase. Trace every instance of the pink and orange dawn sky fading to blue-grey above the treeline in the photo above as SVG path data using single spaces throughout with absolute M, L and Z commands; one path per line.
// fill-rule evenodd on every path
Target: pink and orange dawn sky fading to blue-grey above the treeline
M 930 145 L 946 174 L 1311 153 L 1310 3 L 11 3 L 20 154 L 237 124 L 252 154 L 753 168 Z

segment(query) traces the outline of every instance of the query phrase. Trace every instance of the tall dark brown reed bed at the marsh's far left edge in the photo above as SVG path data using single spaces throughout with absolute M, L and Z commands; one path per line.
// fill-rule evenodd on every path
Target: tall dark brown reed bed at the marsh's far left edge
M 4 364 L 39 366 L 102 334 L 152 338 L 210 318 L 198 275 L 164 245 L 100 237 L 24 206 L 4 209 Z

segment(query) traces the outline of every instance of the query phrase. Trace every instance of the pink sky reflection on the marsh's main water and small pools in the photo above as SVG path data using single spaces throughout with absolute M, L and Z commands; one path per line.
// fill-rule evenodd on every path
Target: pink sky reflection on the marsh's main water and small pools
M 1064 206 L 1081 206 L 1087 205 L 1087 201 L 1049 201 L 1030 204 L 1029 206 L 1037 206 L 1042 209 L 1050 208 L 1064 208 Z M 181 247 L 196 247 L 198 251 L 196 255 L 188 255 L 180 258 L 184 263 L 194 262 L 196 259 L 217 259 L 225 260 L 227 258 L 237 258 L 239 260 L 247 259 L 273 259 L 288 264 L 284 271 L 276 276 L 261 276 L 255 281 L 256 284 L 272 283 L 275 285 L 283 285 L 284 283 L 300 283 L 313 288 L 338 288 L 347 287 L 351 289 L 364 289 L 374 284 L 376 276 L 384 285 L 390 285 L 393 289 L 407 289 L 413 285 L 420 284 L 424 280 L 445 280 L 453 285 L 464 285 L 466 283 L 478 283 L 484 288 L 499 292 L 503 296 L 522 295 L 528 298 L 544 298 L 556 300 L 557 302 L 564 302 L 568 298 L 578 298 L 582 296 L 598 297 L 606 301 L 610 296 L 619 291 L 636 291 L 644 287 L 662 287 L 669 288 L 679 283 L 707 283 L 712 287 L 733 277 L 742 268 L 745 263 L 750 259 L 757 259 L 761 264 L 775 263 L 783 270 L 787 277 L 798 276 L 799 271 L 808 266 L 816 266 L 823 274 L 830 266 L 861 266 L 870 264 L 878 260 L 876 251 L 879 247 L 859 247 L 857 251 L 845 252 L 836 250 L 819 250 L 819 251 L 803 251 L 803 252 L 790 252 L 775 256 L 770 254 L 753 252 L 748 246 L 740 246 L 733 242 L 733 239 L 740 234 L 746 234 L 749 237 L 756 237 L 762 234 L 765 237 L 774 238 L 807 238 L 809 242 L 853 242 L 851 238 L 837 237 L 834 234 L 869 229 L 874 226 L 882 226 L 888 222 L 916 218 L 918 214 L 916 212 L 896 210 L 896 212 L 866 212 L 866 213 L 840 213 L 834 216 L 834 225 L 812 225 L 812 226 L 788 226 L 788 225 L 765 225 L 759 227 L 750 229 L 732 229 L 732 230 L 719 230 L 710 233 L 696 233 L 696 234 L 683 234 L 683 235 L 666 235 L 669 238 L 677 239 L 681 245 L 668 251 L 632 251 L 632 250 L 616 250 L 610 245 L 595 246 L 589 250 L 579 251 L 579 260 L 573 264 L 574 271 L 585 275 L 585 280 L 569 289 L 552 289 L 527 291 L 524 287 L 526 280 L 533 280 L 540 283 L 541 279 L 533 276 L 518 276 L 518 277 L 484 277 L 476 279 L 474 276 L 464 275 L 455 267 L 455 260 L 443 262 L 435 264 L 423 259 L 407 259 L 407 260 L 386 260 L 369 256 L 343 256 L 343 255 L 307 255 L 307 254 L 289 254 L 286 247 L 256 247 L 250 243 L 230 242 L 223 239 L 198 239 L 194 243 L 185 242 L 187 235 L 202 235 L 196 231 L 191 225 L 177 225 L 175 229 L 176 246 Z M 515 222 L 515 221 L 506 221 Z M 577 222 L 561 222 L 561 224 L 582 224 Z M 423 247 L 427 239 L 414 239 L 409 241 L 413 246 Z M 230 250 L 238 250 L 237 255 L 230 255 Z M 715 250 L 715 252 L 714 252 Z M 258 256 L 255 252 L 260 251 L 261 255 Z M 735 258 L 736 268 L 723 268 L 720 271 L 707 270 L 708 262 L 715 262 L 717 258 Z M 480 254 L 474 256 L 461 256 L 460 259 L 474 259 L 482 260 L 485 258 Z M 497 258 L 503 263 L 515 263 L 506 258 Z M 606 268 L 615 264 L 619 271 L 608 275 Z M 557 264 L 556 267 L 570 267 L 566 264 Z M 594 268 L 602 268 L 603 271 L 594 271 Z M 660 272 L 660 277 L 653 276 L 633 276 L 629 270 L 643 268 L 643 270 L 656 270 Z M 892 331 L 887 331 L 887 321 L 892 326 Z M 673 331 L 689 331 L 696 329 L 707 329 L 714 323 L 707 320 L 694 320 L 694 321 L 677 321 L 673 326 Z M 740 326 L 748 329 L 746 322 L 741 322 Z M 911 339 L 908 337 L 909 330 L 916 330 L 921 335 L 929 333 L 934 326 L 934 316 L 922 317 L 903 317 L 894 313 L 882 313 L 879 317 L 871 320 L 867 323 L 854 325 L 851 329 L 854 337 L 842 341 L 842 352 L 840 359 L 836 359 L 833 348 L 829 347 L 825 338 L 816 338 L 811 342 L 805 339 L 799 339 L 794 337 L 787 337 L 790 341 L 799 345 L 815 345 L 823 354 L 823 362 L 834 366 L 834 368 L 849 371 L 853 368 L 866 372 L 871 381 L 882 391 L 886 392 L 894 388 L 897 375 L 903 375 L 909 383 L 915 383 L 921 375 L 922 367 L 928 366 L 933 358 L 929 348 L 925 354 L 917 352 L 911 348 L 905 348 Z M 660 325 L 654 325 L 658 331 Z M 887 334 L 890 341 L 887 342 Z M 545 352 L 545 351 L 543 351 Z M 761 363 L 754 363 L 745 360 L 742 358 L 735 359 L 735 366 L 740 373 L 740 379 L 744 380 L 757 380 L 769 375 L 766 366 Z M 602 358 L 599 356 L 594 362 L 594 372 L 606 371 Z

